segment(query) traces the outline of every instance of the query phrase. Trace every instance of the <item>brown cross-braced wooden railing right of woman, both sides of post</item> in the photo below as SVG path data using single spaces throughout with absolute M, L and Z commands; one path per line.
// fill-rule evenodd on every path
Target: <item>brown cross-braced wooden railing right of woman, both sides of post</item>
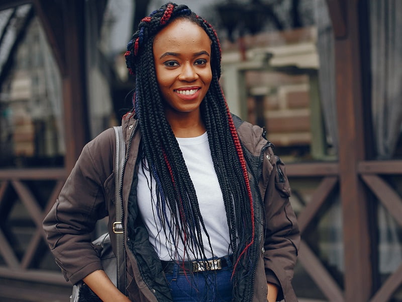
M 357 163 L 357 171 L 359 179 L 367 186 L 367 189 L 376 196 L 398 225 L 402 226 L 402 198 L 382 177 L 383 175 L 402 175 L 402 161 L 363 161 Z M 339 166 L 337 163 L 288 164 L 286 172 L 290 182 L 292 178 L 321 177 L 320 184 L 316 187 L 311 201 L 297 215 L 302 233 L 298 261 L 329 301 L 345 301 L 344 289 L 340 288 L 324 267 L 321 259 L 304 240 L 304 231 L 307 226 L 317 217 L 319 210 L 327 202 L 335 187 L 339 185 L 339 177 L 341 177 Z M 375 223 L 375 221 L 371 221 L 371 223 Z M 371 251 L 367 249 L 366 252 L 370 254 Z M 344 254 L 347 253 L 345 246 Z M 370 302 L 389 300 L 401 285 L 402 265 L 386 279 Z

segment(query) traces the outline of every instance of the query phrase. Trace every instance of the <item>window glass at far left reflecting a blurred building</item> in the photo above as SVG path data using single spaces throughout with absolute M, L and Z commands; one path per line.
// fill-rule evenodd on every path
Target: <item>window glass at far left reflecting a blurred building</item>
M 0 22 L 0 168 L 62 166 L 62 87 L 43 28 L 31 5 Z

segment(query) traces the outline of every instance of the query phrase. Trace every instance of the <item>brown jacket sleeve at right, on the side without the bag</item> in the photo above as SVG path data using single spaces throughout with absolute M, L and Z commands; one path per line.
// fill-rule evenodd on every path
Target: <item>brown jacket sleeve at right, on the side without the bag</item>
M 264 167 L 271 170 L 271 173 L 267 177 L 268 184 L 264 194 L 265 274 L 267 282 L 279 287 L 277 300 L 282 300 L 283 293 L 291 288 L 300 234 L 296 216 L 289 202 L 290 186 L 285 166 L 270 147 L 267 149 L 266 159 L 269 160 Z M 265 173 L 264 171 L 263 174 Z

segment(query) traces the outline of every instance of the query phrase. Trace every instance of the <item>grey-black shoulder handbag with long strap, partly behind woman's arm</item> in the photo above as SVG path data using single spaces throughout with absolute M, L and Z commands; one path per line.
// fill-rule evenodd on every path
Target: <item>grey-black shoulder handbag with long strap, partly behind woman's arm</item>
M 125 146 L 121 126 L 113 127 L 116 134 L 116 159 L 115 159 L 115 198 L 116 198 L 116 219 L 123 217 L 121 176 L 125 156 Z M 123 242 L 122 221 L 113 223 L 113 232 L 116 234 L 116 255 L 112 250 L 112 243 L 109 233 L 98 237 L 92 244 L 100 246 L 100 262 L 102 262 L 105 273 L 109 276 L 117 288 L 126 294 L 126 255 Z M 100 298 L 86 285 L 80 281 L 73 285 L 70 302 L 100 302 Z

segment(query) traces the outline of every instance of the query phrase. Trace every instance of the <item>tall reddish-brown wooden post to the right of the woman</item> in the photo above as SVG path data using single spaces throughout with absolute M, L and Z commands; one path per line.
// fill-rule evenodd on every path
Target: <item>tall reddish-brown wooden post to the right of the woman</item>
M 358 0 L 327 0 L 335 34 L 340 197 L 345 301 L 366 302 L 372 291 L 367 197 L 358 164 L 366 158 Z

